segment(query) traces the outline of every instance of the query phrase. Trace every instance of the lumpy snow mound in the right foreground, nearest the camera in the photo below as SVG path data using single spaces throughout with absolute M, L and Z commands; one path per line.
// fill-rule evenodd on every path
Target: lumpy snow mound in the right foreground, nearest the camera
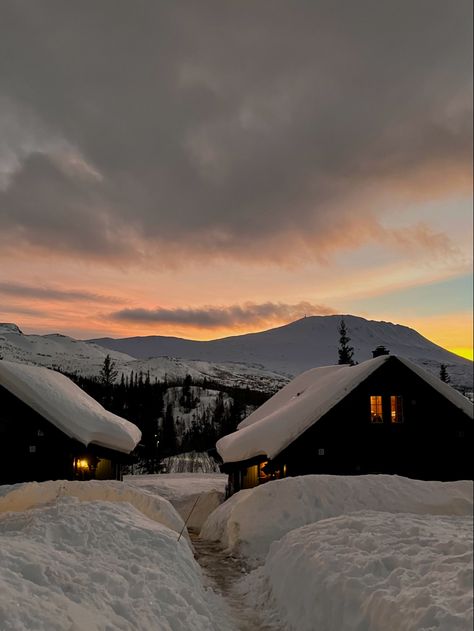
M 471 631 L 472 518 L 327 519 L 274 543 L 242 589 L 288 631 Z

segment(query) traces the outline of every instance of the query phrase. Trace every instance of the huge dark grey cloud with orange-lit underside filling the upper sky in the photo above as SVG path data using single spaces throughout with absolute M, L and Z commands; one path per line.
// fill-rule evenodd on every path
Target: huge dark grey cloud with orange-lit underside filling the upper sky
M 165 264 L 324 255 L 382 232 L 374 182 L 470 172 L 470 0 L 1 11 L 3 243 Z

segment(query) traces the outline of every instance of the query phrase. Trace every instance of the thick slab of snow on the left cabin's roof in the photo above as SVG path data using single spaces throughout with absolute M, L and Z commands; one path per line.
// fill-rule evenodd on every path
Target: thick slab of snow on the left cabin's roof
M 105 410 L 66 376 L 40 366 L 0 361 L 0 385 L 70 438 L 130 453 L 136 425 Z

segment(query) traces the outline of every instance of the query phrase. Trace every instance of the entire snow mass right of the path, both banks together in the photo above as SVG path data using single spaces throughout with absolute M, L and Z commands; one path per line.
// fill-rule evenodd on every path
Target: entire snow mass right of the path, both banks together
M 254 569 L 236 586 L 285 631 L 470 631 L 472 482 L 304 476 L 240 491 L 201 537 Z

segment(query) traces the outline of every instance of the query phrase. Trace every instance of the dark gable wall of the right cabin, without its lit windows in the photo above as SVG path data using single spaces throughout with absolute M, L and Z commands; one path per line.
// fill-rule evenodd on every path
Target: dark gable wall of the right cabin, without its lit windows
M 396 384 L 396 385 L 387 385 Z M 381 395 L 383 423 L 370 420 Z M 390 419 L 402 397 L 403 422 Z M 399 362 L 387 362 L 278 457 L 288 475 L 390 473 L 418 479 L 472 477 L 472 421 Z

